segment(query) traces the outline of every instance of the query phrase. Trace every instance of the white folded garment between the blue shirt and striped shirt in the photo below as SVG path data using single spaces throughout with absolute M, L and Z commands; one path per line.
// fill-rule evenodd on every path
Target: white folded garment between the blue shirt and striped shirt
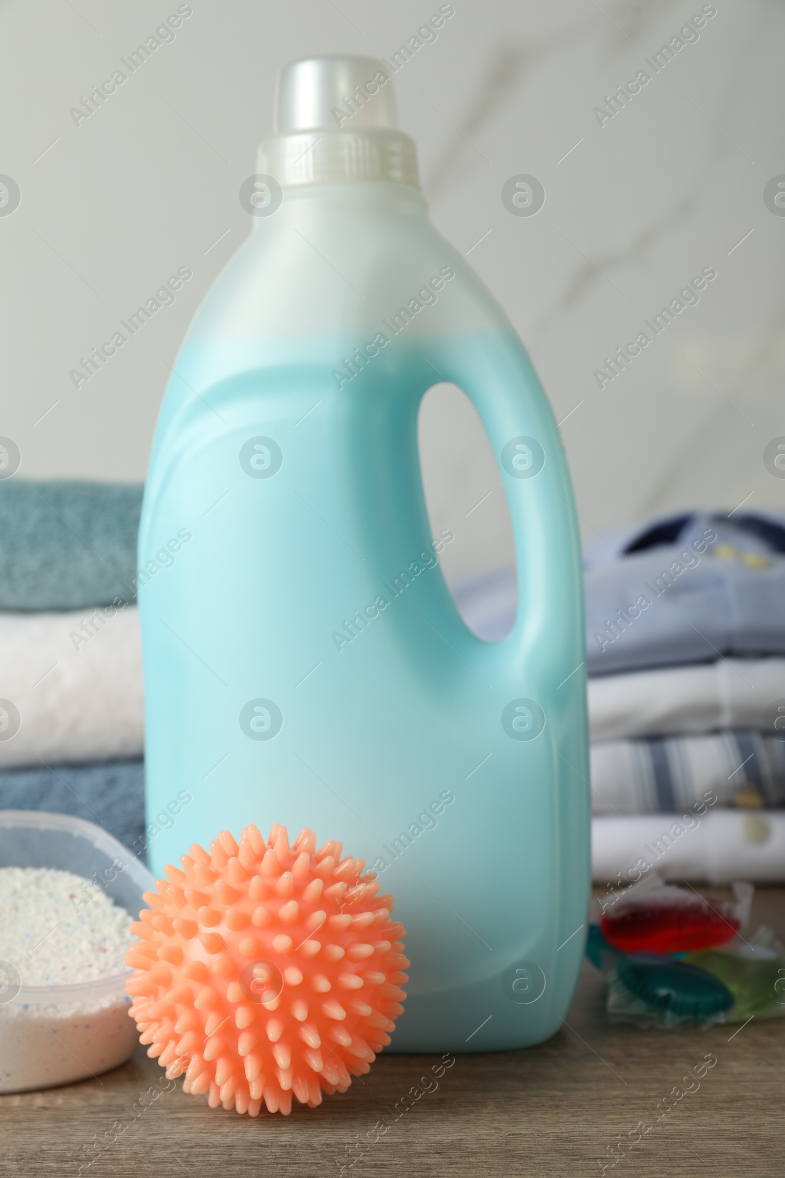
M 588 681 L 592 740 L 757 728 L 785 740 L 785 659 L 719 659 Z

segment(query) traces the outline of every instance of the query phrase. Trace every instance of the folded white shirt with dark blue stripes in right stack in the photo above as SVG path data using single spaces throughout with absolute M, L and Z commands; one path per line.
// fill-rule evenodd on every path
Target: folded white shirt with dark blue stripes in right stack
M 705 802 L 785 805 L 785 740 L 750 729 L 591 747 L 592 812 L 654 814 Z M 712 800 L 713 799 L 713 800 Z

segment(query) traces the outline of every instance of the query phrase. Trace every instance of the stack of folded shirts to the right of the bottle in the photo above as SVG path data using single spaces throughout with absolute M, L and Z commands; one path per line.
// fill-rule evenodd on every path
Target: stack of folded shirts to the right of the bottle
M 584 565 L 594 879 L 785 879 L 785 517 L 656 519 Z M 455 600 L 501 637 L 514 573 Z

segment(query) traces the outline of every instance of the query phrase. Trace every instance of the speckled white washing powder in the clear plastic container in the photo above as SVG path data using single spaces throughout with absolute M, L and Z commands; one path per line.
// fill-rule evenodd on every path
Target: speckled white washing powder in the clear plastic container
M 117 1067 L 138 1041 L 121 980 L 132 916 L 72 872 L 0 868 L 0 1092 L 51 1087 Z M 8 968 L 11 966 L 11 969 Z M 22 987 L 49 994 L 13 999 Z M 89 984 L 94 985 L 91 986 Z M 87 984 L 80 992 L 61 986 Z M 6 982 L 7 985 L 7 982 Z

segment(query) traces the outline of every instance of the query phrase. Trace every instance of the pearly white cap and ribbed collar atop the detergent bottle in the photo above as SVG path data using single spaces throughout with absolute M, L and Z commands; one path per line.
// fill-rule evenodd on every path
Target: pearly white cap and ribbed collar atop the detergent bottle
M 414 144 L 398 130 L 392 71 L 375 58 L 308 58 L 278 79 L 275 133 L 258 172 L 281 187 L 385 180 L 419 187 Z

